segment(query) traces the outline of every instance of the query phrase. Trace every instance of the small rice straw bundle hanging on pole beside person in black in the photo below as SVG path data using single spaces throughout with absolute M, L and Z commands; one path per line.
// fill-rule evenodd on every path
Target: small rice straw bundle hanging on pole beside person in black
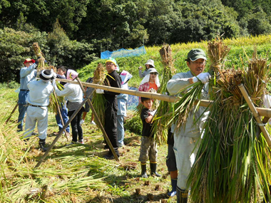
M 105 68 L 102 63 L 98 63 L 96 70 L 93 73 L 93 84 L 105 85 L 104 80 L 106 79 Z M 107 83 L 108 84 L 108 83 Z M 93 92 L 93 108 L 96 110 L 101 124 L 104 126 L 105 123 L 105 107 L 106 107 L 106 98 L 103 94 L 97 94 L 96 91 Z M 95 122 L 98 123 L 98 120 L 94 118 Z

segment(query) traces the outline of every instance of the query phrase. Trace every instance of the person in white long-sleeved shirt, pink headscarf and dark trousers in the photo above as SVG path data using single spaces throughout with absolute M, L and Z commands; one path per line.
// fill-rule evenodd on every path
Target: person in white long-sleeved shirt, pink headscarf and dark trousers
M 66 78 L 68 80 L 74 80 L 78 76 L 78 73 L 73 70 L 67 71 Z M 73 113 L 76 111 L 76 109 L 81 105 L 83 102 L 83 91 L 80 88 L 80 85 L 78 84 L 71 84 L 66 83 L 64 85 L 63 90 L 58 90 L 56 87 L 56 83 L 53 82 L 53 86 L 56 90 L 56 95 L 58 96 L 65 96 L 68 100 L 67 108 L 68 108 L 68 116 L 71 117 Z M 83 130 L 80 125 L 81 116 L 83 114 L 84 108 L 82 107 L 81 110 L 76 114 L 76 116 L 71 120 L 71 132 L 73 140 L 71 141 L 71 144 L 79 142 L 83 144 Z

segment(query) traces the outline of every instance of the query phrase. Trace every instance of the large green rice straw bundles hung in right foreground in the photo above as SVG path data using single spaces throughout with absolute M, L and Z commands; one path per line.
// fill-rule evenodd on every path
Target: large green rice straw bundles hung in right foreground
M 265 94 L 267 59 L 252 58 L 241 68 L 223 67 L 230 48 L 220 38 L 208 43 L 214 101 L 203 140 L 188 177 L 191 202 L 262 202 L 270 199 L 270 147 L 238 88 L 245 85 L 255 106 Z

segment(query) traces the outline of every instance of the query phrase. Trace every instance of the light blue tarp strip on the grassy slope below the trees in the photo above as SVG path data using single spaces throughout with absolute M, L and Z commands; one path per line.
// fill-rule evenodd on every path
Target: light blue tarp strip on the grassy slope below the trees
M 118 57 L 126 57 L 126 56 L 139 56 L 141 54 L 145 54 L 145 47 L 140 46 L 135 49 L 124 49 L 121 48 L 118 51 L 103 51 L 101 52 L 101 59 L 106 59 L 109 57 L 118 58 Z

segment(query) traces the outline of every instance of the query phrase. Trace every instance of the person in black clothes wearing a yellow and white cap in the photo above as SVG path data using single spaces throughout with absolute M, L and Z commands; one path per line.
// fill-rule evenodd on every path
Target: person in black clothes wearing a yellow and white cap
M 104 83 L 106 85 L 111 86 L 113 88 L 121 88 L 121 77 L 116 72 L 118 70 L 118 64 L 114 58 L 108 58 L 106 60 L 106 80 L 104 80 Z M 106 112 L 105 112 L 105 126 L 104 130 L 106 131 L 106 134 L 108 135 L 108 138 L 114 148 L 114 151 L 116 152 L 116 155 L 119 157 L 118 153 L 118 135 L 117 135 L 117 111 L 118 111 L 118 103 L 116 95 L 119 95 L 120 93 L 113 93 L 106 90 L 96 89 L 96 93 L 98 94 L 104 94 L 104 97 L 106 98 Z M 105 148 L 109 148 L 108 144 L 106 143 Z M 109 149 L 109 152 L 107 155 L 104 156 L 107 160 L 113 160 L 115 159 L 113 156 L 113 153 Z

